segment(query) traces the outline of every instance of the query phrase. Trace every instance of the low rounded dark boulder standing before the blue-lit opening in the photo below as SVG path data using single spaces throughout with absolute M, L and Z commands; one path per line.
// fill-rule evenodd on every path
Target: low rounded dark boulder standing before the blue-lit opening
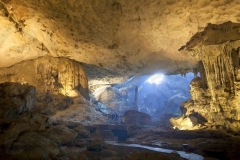
M 123 115 L 123 121 L 127 124 L 149 124 L 151 123 L 151 116 L 146 113 L 138 112 L 135 110 L 126 111 Z

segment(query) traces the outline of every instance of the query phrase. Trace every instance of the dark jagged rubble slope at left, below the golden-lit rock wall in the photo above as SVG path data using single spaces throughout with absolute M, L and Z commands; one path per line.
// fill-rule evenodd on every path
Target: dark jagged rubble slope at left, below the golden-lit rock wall
M 0 84 L 0 159 L 71 157 L 61 146 L 86 147 L 92 140 L 84 125 L 106 123 L 80 94 L 71 98 L 35 90 L 28 84 Z

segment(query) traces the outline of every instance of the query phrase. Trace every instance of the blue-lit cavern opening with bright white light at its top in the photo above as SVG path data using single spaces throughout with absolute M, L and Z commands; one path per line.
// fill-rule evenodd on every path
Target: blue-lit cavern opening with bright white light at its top
M 150 115 L 153 122 L 168 123 L 171 117 L 181 116 L 180 104 L 190 99 L 189 84 L 193 78 L 193 73 L 142 75 L 107 86 L 93 95 L 100 110 L 110 116 L 123 116 L 126 111 L 135 110 Z

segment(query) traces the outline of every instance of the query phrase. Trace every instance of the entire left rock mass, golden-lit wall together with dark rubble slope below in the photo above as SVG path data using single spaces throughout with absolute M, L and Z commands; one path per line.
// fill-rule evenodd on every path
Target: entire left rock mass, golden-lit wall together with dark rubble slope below
M 61 146 L 88 145 L 83 125 L 106 123 L 79 62 L 41 57 L 1 68 L 0 78 L 0 159 L 63 158 Z

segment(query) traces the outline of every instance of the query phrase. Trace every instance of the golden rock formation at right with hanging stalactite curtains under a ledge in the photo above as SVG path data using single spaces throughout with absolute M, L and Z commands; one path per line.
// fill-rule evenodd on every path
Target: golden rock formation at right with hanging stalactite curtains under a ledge
M 240 24 L 209 24 L 182 49 L 199 60 L 201 77 L 190 84 L 191 100 L 182 103 L 183 118 L 192 129 L 203 125 L 240 129 Z M 181 127 L 176 120 L 172 124 Z M 197 127 L 198 128 L 198 127 Z

